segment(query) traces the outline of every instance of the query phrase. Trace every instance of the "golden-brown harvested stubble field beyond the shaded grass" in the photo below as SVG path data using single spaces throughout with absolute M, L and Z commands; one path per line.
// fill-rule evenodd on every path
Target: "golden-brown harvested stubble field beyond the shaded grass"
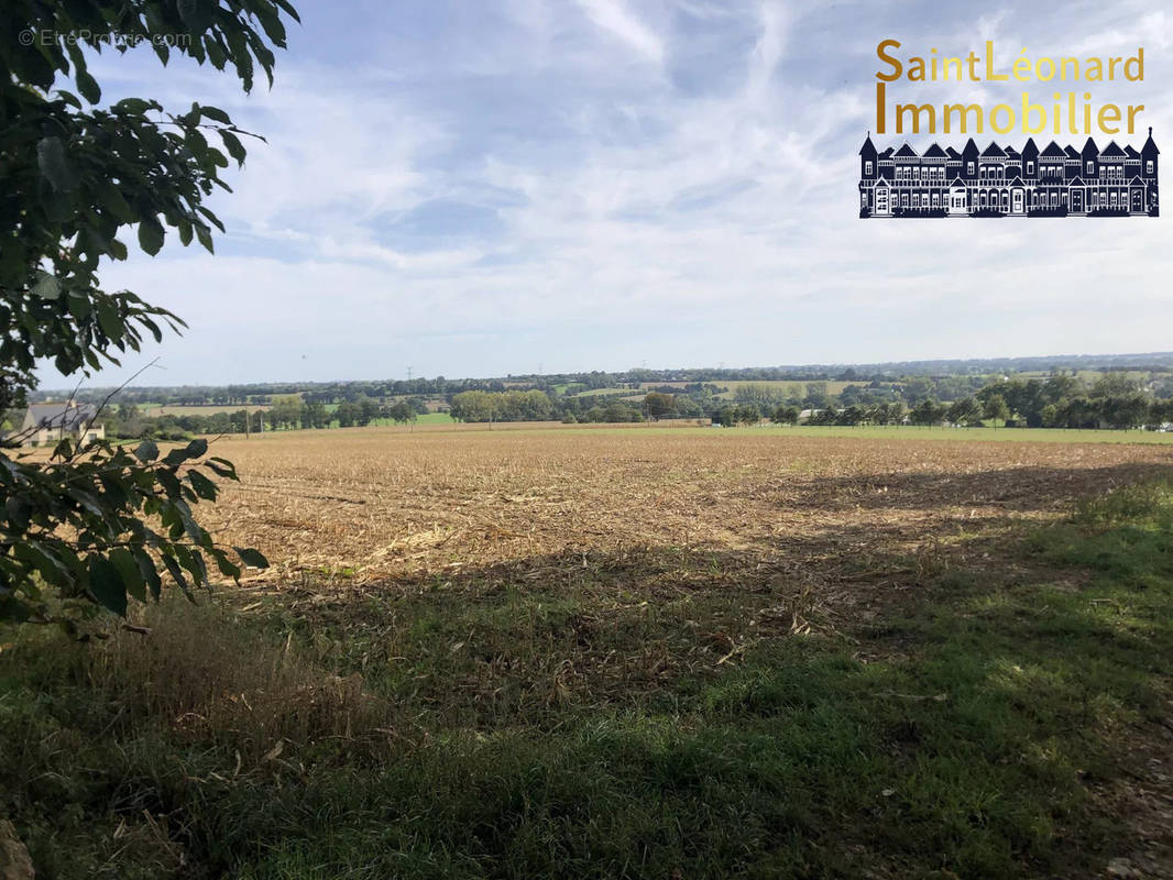
M 1161 446 L 642 428 L 298 432 L 216 451 L 242 485 L 211 523 L 262 549 L 274 583 L 299 571 L 418 583 L 474 567 L 581 568 L 584 555 L 635 549 L 706 571 L 720 554 L 757 576 L 834 580 L 847 556 L 857 568 L 1053 517 L 1173 461 Z

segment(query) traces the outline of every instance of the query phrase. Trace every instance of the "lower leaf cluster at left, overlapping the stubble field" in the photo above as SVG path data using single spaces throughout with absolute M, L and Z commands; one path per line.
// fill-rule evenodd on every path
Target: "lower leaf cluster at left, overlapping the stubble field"
M 45 587 L 66 611 L 126 615 L 129 598 L 158 598 L 161 571 L 191 597 L 210 585 L 209 563 L 237 581 L 242 564 L 267 567 L 257 550 L 230 554 L 196 522 L 192 506 L 219 493 L 213 476 L 238 479 L 203 439 L 161 454 L 149 440 L 129 449 L 66 438 L 48 463 L 0 456 L 0 620 L 72 620 Z

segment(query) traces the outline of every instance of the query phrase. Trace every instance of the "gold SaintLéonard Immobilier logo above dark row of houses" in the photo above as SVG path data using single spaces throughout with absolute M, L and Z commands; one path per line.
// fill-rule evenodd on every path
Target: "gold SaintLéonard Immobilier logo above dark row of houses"
M 1037 59 L 1026 49 L 1011 66 L 1011 73 L 996 73 L 994 46 L 985 43 L 984 59 L 970 52 L 968 57 L 940 59 L 937 49 L 931 57 L 911 57 L 906 67 L 889 50 L 900 48 L 896 40 L 884 40 L 876 47 L 879 57 L 888 70 L 876 73 L 876 134 L 887 133 L 886 83 L 894 82 L 902 73 L 911 83 L 937 80 L 1025 82 L 1053 79 L 1099 82 L 1104 80 L 1144 80 L 1145 52 L 1132 57 L 1111 59 Z M 984 63 L 984 68 L 983 68 Z M 984 75 L 983 75 L 984 74 Z M 917 153 L 908 142 L 896 142 L 879 150 L 868 131 L 860 148 L 860 217 L 1157 217 L 1158 165 L 1160 150 L 1148 138 L 1137 149 L 1123 147 L 1111 140 L 1103 148 L 1093 133 L 1117 134 L 1123 123 L 1133 133 L 1137 115 L 1145 107 L 1132 104 L 1121 108 L 1104 104 L 1096 114 L 1094 131 L 1092 109 L 1084 93 L 1083 113 L 1076 109 L 1074 93 L 1069 93 L 1066 110 L 1063 96 L 1056 92 L 1052 113 L 1033 103 L 1030 93 L 1022 93 L 1022 113 L 1016 114 L 1008 103 L 994 106 L 989 114 L 979 104 L 942 104 L 941 114 L 933 104 L 895 104 L 896 134 L 903 134 L 908 122 L 913 134 L 921 134 L 922 121 L 927 134 L 970 135 L 964 144 L 942 147 L 934 142 Z M 971 135 L 984 134 L 989 121 L 994 134 L 1006 135 L 1016 124 L 1028 135 L 1025 143 L 990 140 L 982 148 Z M 1083 130 L 1079 122 L 1083 122 Z M 1033 135 L 1052 127 L 1055 135 L 1087 135 L 1064 144 L 1051 140 L 1042 149 Z M 1065 129 L 1065 130 L 1064 130 Z M 985 138 L 982 137 L 982 141 Z M 1043 137 L 1039 138 L 1040 141 Z M 1079 141 L 1083 144 L 1079 145 Z

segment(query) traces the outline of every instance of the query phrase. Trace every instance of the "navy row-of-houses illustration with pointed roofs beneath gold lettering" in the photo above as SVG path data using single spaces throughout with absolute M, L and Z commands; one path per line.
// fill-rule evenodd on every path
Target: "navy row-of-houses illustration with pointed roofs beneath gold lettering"
M 907 143 L 882 153 L 868 133 L 860 149 L 860 217 L 1137 217 L 1159 216 L 1153 129 L 1138 153 L 1112 141 L 1103 150 L 1035 140 L 1022 151 L 995 142 L 958 153 Z

